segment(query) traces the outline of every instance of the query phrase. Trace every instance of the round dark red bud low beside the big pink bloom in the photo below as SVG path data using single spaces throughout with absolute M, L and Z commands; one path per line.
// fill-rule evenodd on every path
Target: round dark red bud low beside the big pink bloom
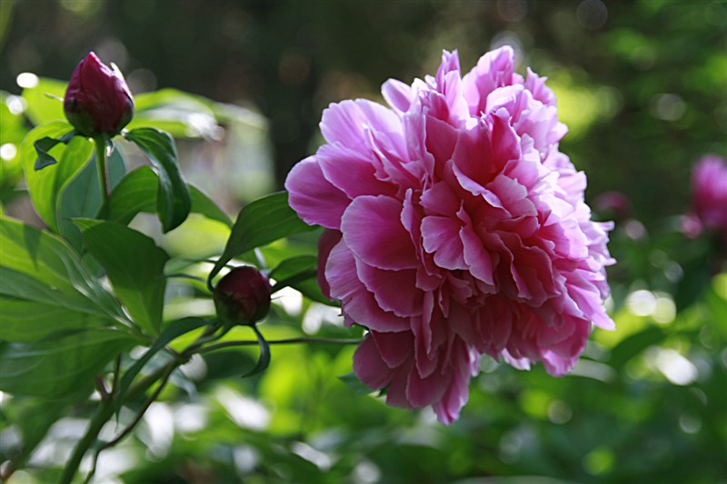
M 225 322 L 254 324 L 270 310 L 270 281 L 254 267 L 230 271 L 214 288 L 217 315 Z

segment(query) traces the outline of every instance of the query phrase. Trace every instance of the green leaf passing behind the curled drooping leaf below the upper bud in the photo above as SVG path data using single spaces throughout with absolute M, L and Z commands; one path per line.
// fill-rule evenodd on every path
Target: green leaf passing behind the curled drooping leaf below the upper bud
M 101 212 L 102 218 L 124 225 L 139 212 L 152 213 L 156 206 L 159 178 L 148 166 L 129 173 L 109 197 L 108 205 Z M 232 227 L 233 222 L 207 195 L 192 185 L 189 193 L 192 200 L 191 212 L 200 213 L 208 219 L 223 222 Z

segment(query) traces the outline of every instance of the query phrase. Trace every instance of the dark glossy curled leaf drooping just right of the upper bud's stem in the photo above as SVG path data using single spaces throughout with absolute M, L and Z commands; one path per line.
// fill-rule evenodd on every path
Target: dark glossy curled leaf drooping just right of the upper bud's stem
M 184 222 L 192 205 L 177 163 L 174 139 L 168 133 L 154 128 L 136 128 L 126 133 L 125 137 L 141 148 L 159 175 L 156 212 L 164 232 L 169 232 Z

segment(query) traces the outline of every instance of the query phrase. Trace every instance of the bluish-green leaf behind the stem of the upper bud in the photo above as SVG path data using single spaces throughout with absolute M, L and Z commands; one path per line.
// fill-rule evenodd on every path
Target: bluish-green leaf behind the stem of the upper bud
M 124 156 L 114 150 L 106 159 L 108 183 L 112 190 L 124 178 L 126 166 Z M 104 198 L 98 185 L 98 172 L 95 163 L 85 165 L 81 173 L 75 176 L 65 188 L 58 203 L 58 228 L 61 235 L 76 252 L 83 252 L 81 231 L 73 222 L 77 218 L 95 218 Z

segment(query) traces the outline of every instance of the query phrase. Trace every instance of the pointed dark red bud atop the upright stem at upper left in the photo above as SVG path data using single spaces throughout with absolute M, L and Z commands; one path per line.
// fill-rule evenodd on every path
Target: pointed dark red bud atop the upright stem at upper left
M 63 108 L 79 133 L 114 136 L 134 117 L 134 98 L 118 69 L 111 69 L 92 52 L 71 75 Z

